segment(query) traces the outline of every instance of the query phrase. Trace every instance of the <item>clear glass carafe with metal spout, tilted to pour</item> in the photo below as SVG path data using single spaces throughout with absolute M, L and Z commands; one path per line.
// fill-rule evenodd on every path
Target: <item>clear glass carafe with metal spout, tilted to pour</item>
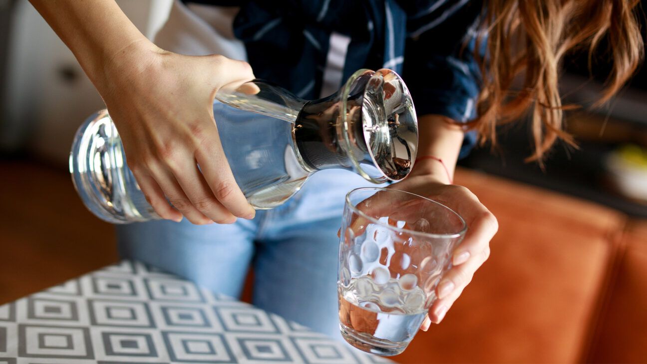
M 281 205 L 318 170 L 343 168 L 383 183 L 406 177 L 415 161 L 413 102 L 388 69 L 357 71 L 337 93 L 313 101 L 263 80 L 223 87 L 214 117 L 234 178 L 256 209 Z M 160 218 L 127 166 L 107 110 L 76 133 L 70 172 L 83 203 L 102 220 Z

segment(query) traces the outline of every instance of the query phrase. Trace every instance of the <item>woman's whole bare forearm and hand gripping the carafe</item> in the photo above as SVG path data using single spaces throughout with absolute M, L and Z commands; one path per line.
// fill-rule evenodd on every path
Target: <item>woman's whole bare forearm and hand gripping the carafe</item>
M 179 221 L 184 214 L 192 223 L 254 217 L 213 110 L 220 87 L 254 78 L 247 63 L 159 49 L 114 0 L 31 2 L 104 98 L 128 166 L 159 216 Z

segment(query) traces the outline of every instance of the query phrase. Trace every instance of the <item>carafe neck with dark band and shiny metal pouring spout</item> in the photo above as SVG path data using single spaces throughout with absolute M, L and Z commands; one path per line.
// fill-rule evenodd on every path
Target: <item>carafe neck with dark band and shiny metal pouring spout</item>
M 388 69 L 360 70 L 335 95 L 305 103 L 293 137 L 307 168 L 345 168 L 382 183 L 411 171 L 418 125 L 400 76 Z

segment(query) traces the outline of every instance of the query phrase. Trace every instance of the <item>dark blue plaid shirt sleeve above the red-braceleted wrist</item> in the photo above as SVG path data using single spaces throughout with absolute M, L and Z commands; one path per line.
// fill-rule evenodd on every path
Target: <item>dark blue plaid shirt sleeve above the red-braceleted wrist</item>
M 402 78 L 418 115 L 439 114 L 459 122 L 476 117 L 481 73 L 474 47 L 481 6 L 481 1 L 438 0 L 422 9 L 406 9 Z M 476 132 L 470 131 L 459 157 L 474 144 Z

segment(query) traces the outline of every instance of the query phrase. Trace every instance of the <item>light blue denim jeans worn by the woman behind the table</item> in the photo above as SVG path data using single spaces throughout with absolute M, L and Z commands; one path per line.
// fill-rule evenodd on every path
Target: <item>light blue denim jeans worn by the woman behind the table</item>
M 285 204 L 257 211 L 254 220 L 119 225 L 119 252 L 232 297 L 239 297 L 251 265 L 255 306 L 341 338 L 337 231 L 345 194 L 367 185 L 351 172 L 323 170 Z

